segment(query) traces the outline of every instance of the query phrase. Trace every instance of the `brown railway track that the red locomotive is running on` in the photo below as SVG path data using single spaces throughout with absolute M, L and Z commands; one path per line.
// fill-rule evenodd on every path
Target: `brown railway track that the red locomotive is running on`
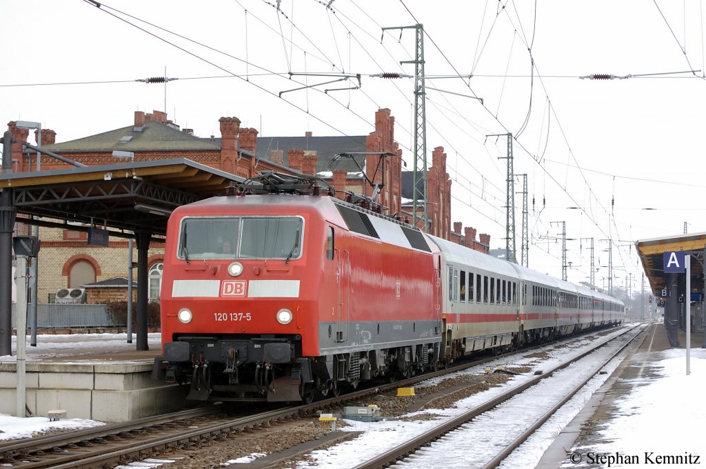
M 523 349 L 522 353 L 532 349 Z M 505 355 L 509 357 L 513 354 Z M 27 439 L 0 445 L 0 463 L 10 464 L 12 468 L 23 469 L 110 467 L 181 449 L 189 449 L 205 441 L 225 439 L 235 432 L 298 418 L 301 415 L 311 415 L 317 410 L 330 411 L 331 408 L 340 408 L 342 403 L 349 400 L 364 398 L 371 393 L 412 386 L 419 381 L 475 367 L 491 360 L 498 360 L 505 355 L 485 357 L 481 360 L 457 364 L 450 369 L 395 381 L 392 384 L 371 386 L 311 404 L 270 409 L 254 415 L 251 409 L 246 410 L 246 415 L 234 415 L 234 410 L 225 412 L 222 405 L 210 405 L 132 422 Z M 336 438 L 336 435 L 332 435 L 330 438 L 321 439 L 313 446 L 309 445 L 306 451 L 311 451 L 316 446 L 331 444 L 335 442 Z M 303 452 L 305 450 L 300 451 L 300 453 Z M 292 451 L 289 451 L 288 455 L 282 454 L 279 458 L 275 456 L 269 458 L 270 462 L 268 463 L 259 461 L 254 465 L 268 467 L 273 464 L 273 461 L 291 458 L 292 454 Z M 374 462 L 372 464 L 365 467 L 379 467 Z

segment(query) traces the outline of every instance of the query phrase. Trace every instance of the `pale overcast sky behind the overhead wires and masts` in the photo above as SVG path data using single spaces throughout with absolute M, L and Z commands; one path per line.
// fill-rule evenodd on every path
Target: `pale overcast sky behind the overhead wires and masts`
M 166 98 L 169 118 L 197 136 L 220 136 L 222 116 L 260 136 L 355 136 L 372 131 L 374 112 L 387 107 L 408 169 L 414 80 L 371 75 L 414 74 L 400 65 L 414 59 L 414 30 L 400 37 L 382 28 L 421 23 L 426 76 L 448 77 L 426 80 L 426 145 L 429 164 L 436 146 L 448 154 L 453 222 L 505 246 L 506 160 L 498 158 L 506 139 L 486 135 L 510 132 L 515 174 L 528 174 L 531 268 L 561 278 L 556 222 L 564 221 L 575 239 L 567 242 L 570 281 L 588 280 L 590 240 L 580 239 L 593 238 L 595 264 L 605 266 L 596 283 L 607 285 L 602 239 L 613 239 L 614 287 L 632 273 L 640 290 L 636 239 L 678 235 L 684 222 L 688 232 L 706 231 L 704 15 L 695 0 L 0 6 L 3 123 L 41 121 L 69 141 L 131 125 L 134 111 L 164 110 Z M 166 93 L 135 81 L 165 68 L 179 78 Z M 342 73 L 360 74 L 360 88 L 333 90 L 359 85 L 351 78 L 289 91 Z M 579 78 L 593 73 L 630 78 Z M 522 194 L 515 205 L 519 259 Z

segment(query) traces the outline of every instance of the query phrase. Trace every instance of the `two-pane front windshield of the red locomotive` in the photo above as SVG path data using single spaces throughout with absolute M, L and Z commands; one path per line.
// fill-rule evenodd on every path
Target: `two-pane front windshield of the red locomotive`
M 190 217 L 181 220 L 177 257 L 194 259 L 298 259 L 301 217 Z

